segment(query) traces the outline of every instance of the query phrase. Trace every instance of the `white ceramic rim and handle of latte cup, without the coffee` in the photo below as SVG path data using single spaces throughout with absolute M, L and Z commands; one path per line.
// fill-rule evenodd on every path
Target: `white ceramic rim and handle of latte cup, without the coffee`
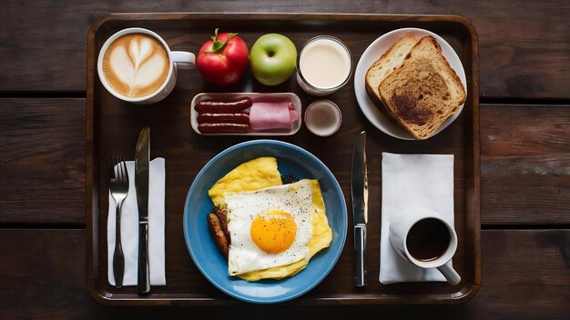
M 113 86 L 110 85 L 109 82 L 107 81 L 107 75 L 105 75 L 104 72 L 103 60 L 109 46 L 112 45 L 119 37 L 130 34 L 148 35 L 149 37 L 158 40 L 158 42 L 164 47 L 164 50 L 166 51 L 167 54 L 168 73 L 166 74 L 166 78 L 164 79 L 163 82 L 161 82 L 161 85 L 159 85 L 156 90 L 150 92 L 147 95 L 127 96 L 117 92 L 117 90 L 113 88 Z M 167 97 L 167 95 L 170 94 L 172 89 L 174 89 L 174 86 L 176 85 L 177 81 L 178 68 L 190 69 L 195 64 L 196 64 L 196 56 L 194 54 L 183 51 L 170 51 L 170 48 L 168 47 L 164 39 L 162 39 L 162 37 L 160 37 L 156 33 L 148 29 L 133 27 L 118 31 L 116 34 L 111 35 L 107 39 L 105 44 L 103 44 L 97 58 L 97 73 L 99 75 L 99 80 L 101 81 L 101 84 L 105 86 L 105 88 L 111 95 L 116 96 L 118 99 L 135 104 L 152 104 Z

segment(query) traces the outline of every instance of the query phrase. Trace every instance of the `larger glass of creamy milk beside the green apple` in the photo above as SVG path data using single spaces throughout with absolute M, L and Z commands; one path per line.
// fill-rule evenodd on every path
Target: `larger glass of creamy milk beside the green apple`
M 331 35 L 311 38 L 297 56 L 297 83 L 310 95 L 331 95 L 349 82 L 349 48 Z

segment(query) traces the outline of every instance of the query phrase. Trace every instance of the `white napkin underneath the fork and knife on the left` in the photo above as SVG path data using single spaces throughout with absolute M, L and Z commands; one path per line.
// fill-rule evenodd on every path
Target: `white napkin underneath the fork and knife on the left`
M 164 247 L 164 199 L 166 169 L 164 158 L 150 161 L 148 176 L 148 270 L 150 285 L 166 285 Z M 138 206 L 135 188 L 135 162 L 127 161 L 128 195 L 121 211 L 121 244 L 125 254 L 123 285 L 137 285 L 138 273 Z M 107 219 L 108 281 L 115 285 L 113 253 L 115 252 L 115 199 L 109 192 Z

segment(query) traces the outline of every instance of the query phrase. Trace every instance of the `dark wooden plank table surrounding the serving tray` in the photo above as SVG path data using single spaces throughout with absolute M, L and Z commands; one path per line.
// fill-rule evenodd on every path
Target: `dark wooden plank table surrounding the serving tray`
M 0 318 L 570 315 L 570 4 L 2 1 Z M 461 15 L 479 35 L 482 285 L 462 305 L 107 306 L 87 292 L 87 30 L 115 12 Z

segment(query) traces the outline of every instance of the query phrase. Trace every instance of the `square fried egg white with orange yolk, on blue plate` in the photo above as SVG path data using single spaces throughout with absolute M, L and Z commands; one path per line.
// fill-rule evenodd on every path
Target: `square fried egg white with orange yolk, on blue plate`
M 309 256 L 312 181 L 225 195 L 229 275 L 290 265 Z M 249 231 L 249 232 L 248 232 Z

